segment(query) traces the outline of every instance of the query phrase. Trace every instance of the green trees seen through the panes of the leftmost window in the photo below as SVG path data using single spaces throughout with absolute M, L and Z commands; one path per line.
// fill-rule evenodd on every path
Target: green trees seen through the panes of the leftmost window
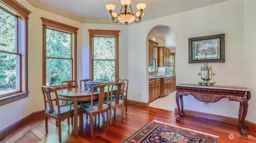
M 0 8 L 0 96 L 21 92 L 17 20 Z

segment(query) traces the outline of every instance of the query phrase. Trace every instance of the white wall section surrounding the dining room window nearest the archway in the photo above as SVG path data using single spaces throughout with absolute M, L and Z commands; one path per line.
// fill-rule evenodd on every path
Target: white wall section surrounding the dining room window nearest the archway
M 78 55 L 82 57 L 82 77 L 80 79 L 90 78 L 90 59 L 89 59 L 89 31 L 88 29 L 120 30 L 119 33 L 119 77 L 128 78 L 128 27 L 127 25 L 110 24 L 83 24 L 82 52 Z M 81 65 L 80 65 L 81 66 Z

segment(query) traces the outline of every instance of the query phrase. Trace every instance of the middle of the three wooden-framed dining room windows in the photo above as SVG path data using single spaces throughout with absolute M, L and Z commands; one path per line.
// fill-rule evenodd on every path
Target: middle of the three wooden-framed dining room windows
M 41 19 L 44 42 L 43 85 L 59 87 L 62 81 L 76 80 L 75 59 L 78 28 L 46 18 Z

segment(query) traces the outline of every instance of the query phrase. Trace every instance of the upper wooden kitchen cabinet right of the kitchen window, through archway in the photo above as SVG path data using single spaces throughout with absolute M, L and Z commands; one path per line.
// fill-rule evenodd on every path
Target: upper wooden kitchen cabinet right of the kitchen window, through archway
M 158 47 L 158 67 L 171 67 L 170 54 L 170 49 Z

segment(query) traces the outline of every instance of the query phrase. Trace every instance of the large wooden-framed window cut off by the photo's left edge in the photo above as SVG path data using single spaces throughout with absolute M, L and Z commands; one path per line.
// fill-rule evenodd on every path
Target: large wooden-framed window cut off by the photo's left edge
M 28 96 L 27 26 L 30 13 L 14 0 L 0 1 L 0 106 Z M 5 98 L 10 95 L 12 97 Z

